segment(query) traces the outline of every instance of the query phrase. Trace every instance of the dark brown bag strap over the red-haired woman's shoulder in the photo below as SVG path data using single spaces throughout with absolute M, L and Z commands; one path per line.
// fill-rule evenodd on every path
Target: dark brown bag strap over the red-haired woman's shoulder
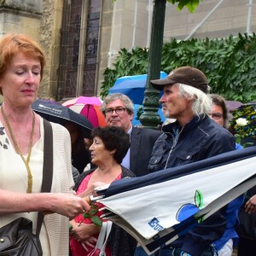
M 49 192 L 51 189 L 53 176 L 53 135 L 52 127 L 46 119 L 44 119 L 44 166 L 43 181 L 41 192 Z M 39 236 L 44 220 L 44 213 L 38 212 L 38 224 L 36 236 Z

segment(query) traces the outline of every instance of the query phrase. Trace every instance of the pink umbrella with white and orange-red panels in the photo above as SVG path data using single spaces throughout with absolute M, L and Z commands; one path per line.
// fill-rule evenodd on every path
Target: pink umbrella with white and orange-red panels
M 79 96 L 78 98 L 63 102 L 62 105 L 72 109 L 76 113 L 84 115 L 94 127 L 104 127 L 107 125 L 100 109 L 102 101 L 96 96 Z

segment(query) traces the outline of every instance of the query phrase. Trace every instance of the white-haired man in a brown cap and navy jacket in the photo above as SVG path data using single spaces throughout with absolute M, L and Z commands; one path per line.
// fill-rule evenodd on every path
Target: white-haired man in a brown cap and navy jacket
M 163 126 L 164 133 L 154 143 L 149 172 L 187 165 L 235 149 L 235 139 L 230 132 L 208 116 L 212 102 L 206 94 L 209 86 L 201 70 L 178 67 L 166 79 L 152 80 L 151 84 L 156 90 L 164 90 L 160 98 L 163 113 L 176 121 Z M 215 212 L 152 255 L 213 256 L 212 242 L 225 230 L 224 212 L 225 209 Z M 146 255 L 142 247 L 137 247 L 135 256 Z

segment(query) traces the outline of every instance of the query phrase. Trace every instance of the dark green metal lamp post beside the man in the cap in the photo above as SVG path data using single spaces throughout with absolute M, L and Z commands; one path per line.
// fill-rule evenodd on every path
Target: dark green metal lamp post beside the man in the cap
M 160 124 L 158 90 L 154 90 L 150 80 L 160 78 L 161 55 L 164 38 L 166 0 L 154 0 L 154 13 L 149 46 L 148 77 L 144 93 L 143 109 L 140 121 L 144 127 L 155 129 Z

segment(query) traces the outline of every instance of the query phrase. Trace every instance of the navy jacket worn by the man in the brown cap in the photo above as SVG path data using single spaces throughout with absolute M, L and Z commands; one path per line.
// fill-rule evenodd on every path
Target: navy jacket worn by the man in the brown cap
M 183 128 L 175 122 L 163 126 L 162 130 L 165 133 L 154 143 L 149 172 L 187 165 L 236 149 L 232 134 L 207 116 L 195 116 Z M 171 247 L 179 247 L 193 256 L 200 256 L 223 235 L 226 225 L 224 212 L 225 209 L 221 209 L 214 213 L 185 236 L 173 241 Z

